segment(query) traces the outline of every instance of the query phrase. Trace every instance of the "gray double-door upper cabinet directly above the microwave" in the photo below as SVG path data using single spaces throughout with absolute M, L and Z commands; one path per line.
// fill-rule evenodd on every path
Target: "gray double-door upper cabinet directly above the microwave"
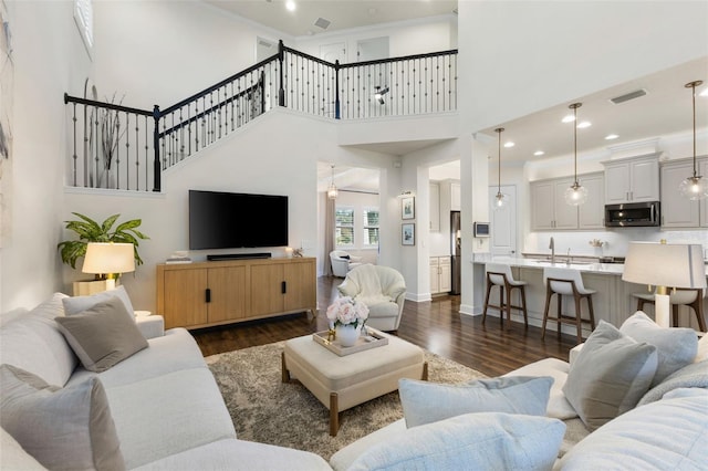
M 603 161 L 605 203 L 659 200 L 658 154 Z

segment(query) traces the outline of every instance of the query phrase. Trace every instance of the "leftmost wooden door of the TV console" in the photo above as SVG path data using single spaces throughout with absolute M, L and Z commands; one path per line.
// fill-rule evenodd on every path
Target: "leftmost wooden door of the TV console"
M 163 310 L 165 327 L 190 327 L 207 324 L 207 270 L 168 270 L 164 272 Z

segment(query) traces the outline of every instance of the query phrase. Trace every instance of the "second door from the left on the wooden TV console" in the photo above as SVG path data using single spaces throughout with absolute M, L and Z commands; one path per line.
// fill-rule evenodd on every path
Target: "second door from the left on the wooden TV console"
M 209 269 L 209 323 L 238 321 L 247 315 L 246 266 Z

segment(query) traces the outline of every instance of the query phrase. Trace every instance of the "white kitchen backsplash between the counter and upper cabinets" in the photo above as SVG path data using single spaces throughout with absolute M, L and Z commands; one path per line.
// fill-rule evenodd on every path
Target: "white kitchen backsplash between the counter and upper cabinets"
M 580 257 L 624 257 L 629 242 L 658 242 L 666 239 L 669 243 L 700 243 L 708 250 L 708 230 L 663 231 L 658 228 L 618 228 L 605 231 L 558 231 L 531 232 L 527 237 L 523 253 L 551 253 L 549 242 L 553 237 L 555 253 Z M 594 247 L 591 241 L 600 240 L 602 247 Z

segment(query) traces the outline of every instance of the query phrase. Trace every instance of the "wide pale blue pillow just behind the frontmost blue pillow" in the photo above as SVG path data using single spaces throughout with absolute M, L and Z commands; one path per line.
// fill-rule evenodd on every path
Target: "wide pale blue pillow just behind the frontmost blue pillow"
M 398 394 L 408 428 L 470 412 L 543 416 L 553 378 L 513 376 L 441 385 L 399 379 Z

